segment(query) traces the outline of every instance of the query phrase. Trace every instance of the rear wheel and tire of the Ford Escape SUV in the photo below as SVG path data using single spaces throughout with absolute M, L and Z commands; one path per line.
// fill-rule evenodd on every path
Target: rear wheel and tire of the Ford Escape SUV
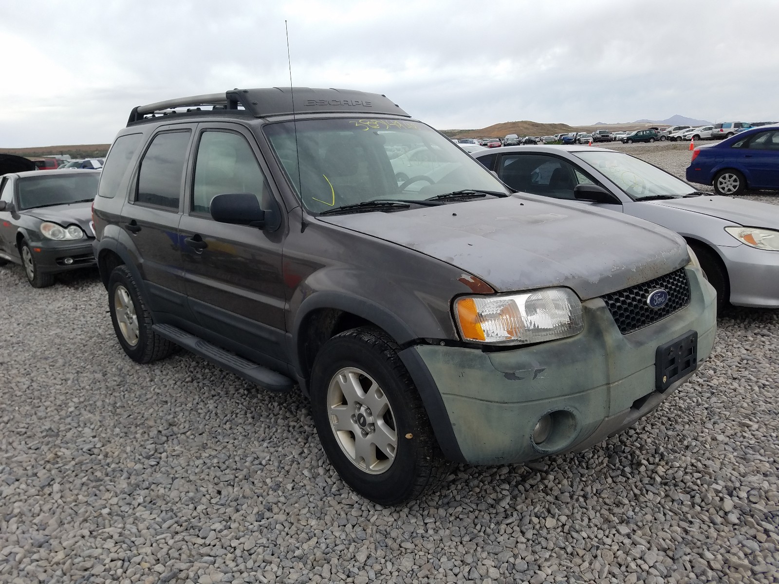
M 176 345 L 153 331 L 151 311 L 127 266 L 108 279 L 108 311 L 122 349 L 136 363 L 151 363 L 170 355 Z

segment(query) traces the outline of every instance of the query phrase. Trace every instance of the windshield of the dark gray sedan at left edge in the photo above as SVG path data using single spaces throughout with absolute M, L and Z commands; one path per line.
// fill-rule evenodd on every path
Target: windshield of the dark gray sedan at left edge
M 54 177 L 20 178 L 19 209 L 34 209 L 70 202 L 91 201 L 97 195 L 98 173 L 58 174 Z

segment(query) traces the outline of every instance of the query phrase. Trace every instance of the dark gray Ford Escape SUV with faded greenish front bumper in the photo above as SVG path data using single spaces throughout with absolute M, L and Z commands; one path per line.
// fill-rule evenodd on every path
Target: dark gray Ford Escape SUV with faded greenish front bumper
M 178 345 L 299 387 L 340 476 L 382 505 L 451 461 L 594 445 L 714 343 L 714 291 L 681 237 L 514 193 L 382 95 L 136 107 L 93 213 L 125 353 Z

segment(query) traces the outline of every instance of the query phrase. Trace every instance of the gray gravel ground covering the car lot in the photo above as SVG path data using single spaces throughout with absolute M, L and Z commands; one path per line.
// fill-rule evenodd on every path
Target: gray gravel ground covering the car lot
M 630 151 L 682 164 L 667 146 Z M 0 297 L 0 582 L 779 579 L 777 311 L 728 311 L 696 378 L 618 437 L 382 508 L 297 394 L 125 357 L 96 273 L 33 290 L 0 268 Z

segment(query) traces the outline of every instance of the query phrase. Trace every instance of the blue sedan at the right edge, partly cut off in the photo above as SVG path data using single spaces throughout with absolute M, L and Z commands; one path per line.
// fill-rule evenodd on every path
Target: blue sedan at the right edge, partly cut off
M 779 190 L 779 125 L 749 128 L 696 148 L 687 181 L 714 185 L 717 195 L 740 195 L 745 188 Z

